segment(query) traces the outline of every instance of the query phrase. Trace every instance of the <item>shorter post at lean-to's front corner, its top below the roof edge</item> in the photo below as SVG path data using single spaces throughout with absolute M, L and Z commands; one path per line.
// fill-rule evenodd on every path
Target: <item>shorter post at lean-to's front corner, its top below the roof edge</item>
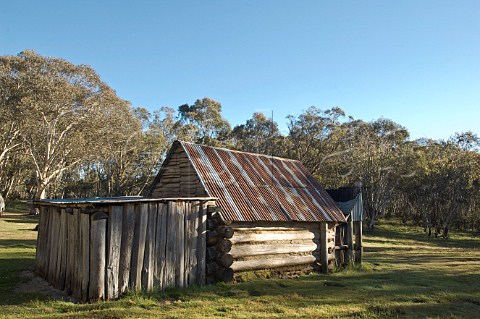
M 108 215 L 96 212 L 90 216 L 90 283 L 88 299 L 105 298 L 105 265 Z

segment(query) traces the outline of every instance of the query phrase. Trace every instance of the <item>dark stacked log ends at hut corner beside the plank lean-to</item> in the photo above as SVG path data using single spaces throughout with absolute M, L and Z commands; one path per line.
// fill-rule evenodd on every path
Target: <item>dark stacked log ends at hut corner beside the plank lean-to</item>
M 207 207 L 207 283 L 233 280 L 230 267 L 233 263 L 230 254 L 233 229 L 228 221 L 221 218 L 219 210 L 216 206 Z

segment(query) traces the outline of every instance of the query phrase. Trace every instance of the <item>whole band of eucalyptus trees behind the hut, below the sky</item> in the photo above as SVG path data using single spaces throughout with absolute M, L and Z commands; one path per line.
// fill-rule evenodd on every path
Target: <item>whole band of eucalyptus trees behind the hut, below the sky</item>
M 150 112 L 89 66 L 34 51 L 0 56 L 0 193 L 7 199 L 145 194 L 174 140 L 296 159 L 325 188 L 363 184 L 369 229 L 382 216 L 429 235 L 480 231 L 480 139 L 411 140 L 392 120 L 338 107 L 263 113 L 232 127 L 210 98 Z

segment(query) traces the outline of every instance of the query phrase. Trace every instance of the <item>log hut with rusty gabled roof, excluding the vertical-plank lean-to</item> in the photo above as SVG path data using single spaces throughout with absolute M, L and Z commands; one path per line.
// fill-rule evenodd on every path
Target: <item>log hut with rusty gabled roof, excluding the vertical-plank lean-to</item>
M 346 218 L 295 160 L 176 141 L 150 197 L 216 198 L 207 216 L 207 279 L 260 269 L 335 264 L 335 233 Z

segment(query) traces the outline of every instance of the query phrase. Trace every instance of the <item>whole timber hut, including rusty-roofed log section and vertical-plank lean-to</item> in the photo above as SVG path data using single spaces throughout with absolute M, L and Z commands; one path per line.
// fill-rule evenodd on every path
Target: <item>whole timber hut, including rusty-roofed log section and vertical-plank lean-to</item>
M 81 301 L 263 269 L 328 272 L 351 216 L 298 161 L 180 141 L 146 197 L 34 205 L 36 270 Z

